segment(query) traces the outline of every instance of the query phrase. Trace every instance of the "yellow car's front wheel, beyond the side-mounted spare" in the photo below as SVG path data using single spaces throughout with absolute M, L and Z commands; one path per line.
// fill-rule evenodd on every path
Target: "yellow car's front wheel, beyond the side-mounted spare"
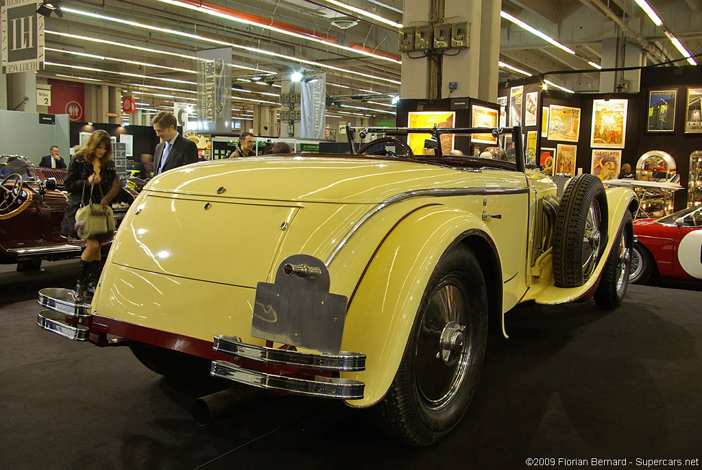
M 611 253 L 604 265 L 600 285 L 595 290 L 595 304 L 601 309 L 616 309 L 624 299 L 631 271 L 631 246 L 634 243 L 634 224 L 627 210 Z

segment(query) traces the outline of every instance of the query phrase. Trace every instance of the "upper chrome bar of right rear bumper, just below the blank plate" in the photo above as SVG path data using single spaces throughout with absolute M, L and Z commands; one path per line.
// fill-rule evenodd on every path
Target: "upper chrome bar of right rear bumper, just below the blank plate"
M 289 349 L 245 344 L 234 336 L 216 336 L 213 349 L 221 353 L 269 364 L 289 365 L 315 370 L 336 370 L 339 372 L 366 370 L 366 355 L 355 352 L 340 351 L 339 354 L 310 354 Z

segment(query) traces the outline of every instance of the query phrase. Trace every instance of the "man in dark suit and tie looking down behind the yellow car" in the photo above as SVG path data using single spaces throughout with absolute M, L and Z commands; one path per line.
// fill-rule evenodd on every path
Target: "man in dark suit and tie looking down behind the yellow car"
M 197 145 L 176 130 L 178 121 L 173 113 L 161 111 L 152 123 L 162 141 L 154 150 L 154 176 L 197 161 Z

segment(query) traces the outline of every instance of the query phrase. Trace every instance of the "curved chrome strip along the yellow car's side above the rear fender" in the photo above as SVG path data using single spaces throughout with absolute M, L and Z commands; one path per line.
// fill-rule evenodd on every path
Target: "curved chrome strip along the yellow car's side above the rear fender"
M 351 239 L 352 236 L 356 234 L 361 227 L 368 222 L 373 215 L 376 215 L 381 210 L 392 206 L 407 199 L 414 199 L 419 197 L 449 197 L 449 196 L 495 196 L 496 194 L 527 194 L 529 188 L 484 188 L 484 187 L 470 187 L 470 188 L 435 188 L 435 189 L 418 189 L 416 191 L 408 191 L 400 194 L 396 194 L 391 198 L 385 199 L 385 201 L 378 203 L 371 210 L 369 210 L 366 215 L 361 217 L 361 220 L 356 222 L 356 224 L 348 231 L 343 239 L 338 243 L 336 248 L 331 252 L 331 255 L 326 260 L 326 266 L 329 267 L 331 262 L 336 258 L 339 252 L 344 248 L 346 243 Z

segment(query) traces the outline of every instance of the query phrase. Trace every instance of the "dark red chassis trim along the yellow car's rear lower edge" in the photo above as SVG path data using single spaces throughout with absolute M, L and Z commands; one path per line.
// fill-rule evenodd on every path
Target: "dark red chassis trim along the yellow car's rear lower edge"
M 298 368 L 288 365 L 277 365 L 253 361 L 249 358 L 223 354 L 213 350 L 213 341 L 200 340 L 190 336 L 177 335 L 167 331 L 155 330 L 133 323 L 106 318 L 92 314 L 88 318 L 66 316 L 70 325 L 81 325 L 90 329 L 90 342 L 100 347 L 127 346 L 129 342 L 152 344 L 153 346 L 180 351 L 191 356 L 208 359 L 209 361 L 227 361 L 247 370 L 272 373 L 276 375 L 289 375 L 292 377 L 331 377 L 331 372 Z M 117 336 L 117 339 L 108 339 L 107 335 Z M 267 346 L 272 346 L 269 342 Z

